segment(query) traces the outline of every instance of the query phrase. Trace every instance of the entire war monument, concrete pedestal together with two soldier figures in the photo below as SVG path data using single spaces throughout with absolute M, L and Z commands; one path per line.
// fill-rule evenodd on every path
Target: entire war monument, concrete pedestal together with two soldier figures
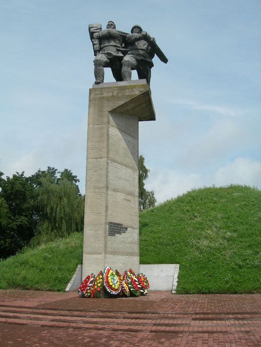
M 90 24 L 95 83 L 89 90 L 82 279 L 106 266 L 140 272 L 139 122 L 155 121 L 152 59 L 168 59 L 155 39 L 109 21 Z M 104 68 L 116 82 L 104 83 Z M 131 80 L 136 70 L 138 80 Z

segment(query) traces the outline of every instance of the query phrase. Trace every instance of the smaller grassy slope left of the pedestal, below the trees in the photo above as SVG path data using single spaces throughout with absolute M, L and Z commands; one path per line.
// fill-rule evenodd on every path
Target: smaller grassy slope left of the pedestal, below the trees
M 81 233 L 27 248 L 0 262 L 0 288 L 64 291 L 81 262 Z

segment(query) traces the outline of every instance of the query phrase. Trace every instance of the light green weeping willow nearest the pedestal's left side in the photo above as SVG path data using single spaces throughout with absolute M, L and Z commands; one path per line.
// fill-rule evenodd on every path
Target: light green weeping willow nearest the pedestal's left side
M 41 185 L 37 187 L 37 196 L 39 222 L 32 244 L 82 231 L 84 197 L 75 183 L 66 179 L 54 183 L 42 178 Z

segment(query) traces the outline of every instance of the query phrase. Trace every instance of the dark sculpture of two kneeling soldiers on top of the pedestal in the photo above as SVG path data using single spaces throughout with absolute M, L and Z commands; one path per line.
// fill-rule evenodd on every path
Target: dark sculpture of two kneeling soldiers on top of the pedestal
M 111 68 L 116 81 L 131 80 L 131 71 L 137 70 L 139 79 L 144 78 L 150 84 L 154 55 L 164 63 L 168 61 L 155 38 L 142 31 L 139 24 L 135 24 L 128 34 L 116 30 L 115 23 L 110 20 L 102 31 L 100 24 L 90 24 L 89 34 L 95 55 L 96 84 L 103 83 L 104 67 Z

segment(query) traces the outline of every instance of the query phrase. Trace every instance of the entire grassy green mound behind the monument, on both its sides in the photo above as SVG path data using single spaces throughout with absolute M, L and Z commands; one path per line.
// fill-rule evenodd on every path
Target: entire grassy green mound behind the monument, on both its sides
M 140 214 L 141 264 L 180 264 L 178 293 L 261 292 L 261 191 L 203 188 Z M 0 262 L 0 288 L 63 291 L 82 261 L 82 234 Z

